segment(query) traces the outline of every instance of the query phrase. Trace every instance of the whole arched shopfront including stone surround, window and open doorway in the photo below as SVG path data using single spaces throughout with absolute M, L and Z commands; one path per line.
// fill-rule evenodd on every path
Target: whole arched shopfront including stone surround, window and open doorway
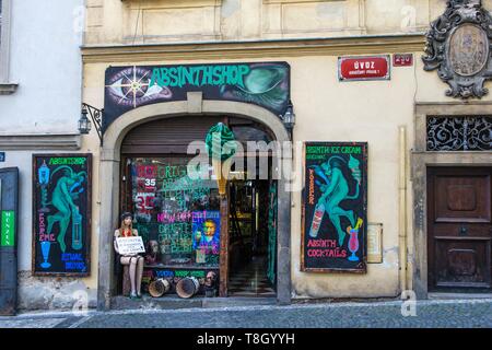
M 188 143 L 204 140 L 219 121 L 227 124 L 241 142 L 286 141 L 288 133 L 279 118 L 261 107 L 200 102 L 198 110 L 190 96 L 185 102 L 139 107 L 106 130 L 99 174 L 99 308 L 110 308 L 112 298 L 124 292 L 112 249 L 112 233 L 124 210 L 136 212 L 136 226 L 144 241 L 160 246 L 157 258 L 145 265 L 144 290 L 152 277 L 176 282 L 185 276 L 201 279 L 214 270 L 227 285 L 222 296 L 277 296 L 280 303 L 290 303 L 290 194 L 284 180 L 242 179 L 237 170 L 236 179 L 230 182 L 229 228 L 224 230 L 219 226 L 215 180 L 191 184 L 186 174 L 191 158 L 186 154 Z M 280 161 L 290 162 L 290 154 L 285 155 Z M 271 162 L 269 167 L 271 174 Z M 114 182 L 106 186 L 109 178 Z M 212 221 L 219 226 L 216 236 L 229 238 L 227 249 L 215 256 L 203 255 L 196 240 L 197 231 Z M 225 270 L 219 267 L 220 254 L 227 255 Z

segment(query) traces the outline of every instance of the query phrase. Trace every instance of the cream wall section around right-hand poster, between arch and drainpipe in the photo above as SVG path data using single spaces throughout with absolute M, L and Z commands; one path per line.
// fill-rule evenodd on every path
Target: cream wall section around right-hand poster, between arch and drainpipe
M 413 68 L 394 69 L 390 81 L 342 83 L 338 82 L 336 57 L 300 59 L 291 65 L 292 94 L 298 120 L 295 140 L 368 142 L 367 220 L 384 226 L 384 262 L 370 264 L 367 275 L 301 272 L 301 194 L 295 194 L 292 209 L 295 294 L 395 296 L 399 292 L 398 126 L 412 129 Z

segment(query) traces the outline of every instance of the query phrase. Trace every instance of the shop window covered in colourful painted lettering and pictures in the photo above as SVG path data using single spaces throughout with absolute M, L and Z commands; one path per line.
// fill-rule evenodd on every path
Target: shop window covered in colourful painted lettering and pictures
M 134 158 L 134 228 L 148 246 L 147 267 L 219 268 L 220 198 L 215 180 L 191 179 L 188 159 Z

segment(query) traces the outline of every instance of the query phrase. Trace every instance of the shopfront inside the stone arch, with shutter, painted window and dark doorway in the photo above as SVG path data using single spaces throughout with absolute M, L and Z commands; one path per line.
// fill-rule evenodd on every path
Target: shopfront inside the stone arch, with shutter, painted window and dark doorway
M 277 180 L 271 176 L 271 158 L 247 151 L 236 154 L 241 166 L 232 168 L 234 179 L 229 182 L 227 221 L 221 218 L 216 180 L 194 179 L 188 174 L 187 165 L 195 156 L 187 154 L 188 144 L 204 140 L 220 121 L 231 128 L 245 151 L 248 141 L 273 141 L 271 132 L 257 122 L 215 116 L 150 121 L 132 129 L 122 141 L 120 211 L 134 213 L 133 228 L 148 246 L 143 292 L 152 280 L 165 278 L 172 294 L 180 278 L 192 276 L 201 284 L 198 294 L 204 294 L 206 276 L 212 271 L 226 285 L 216 295 L 276 295 Z M 261 178 L 259 172 L 245 176 L 248 161 L 258 167 L 260 160 L 268 166 L 267 176 Z M 207 233 L 212 238 L 204 245 Z M 225 235 L 226 249 L 221 252 Z M 157 252 L 150 254 L 151 246 Z M 227 261 L 222 270 L 221 259 Z M 120 270 L 118 293 L 128 295 L 129 284 L 122 283 L 121 275 Z

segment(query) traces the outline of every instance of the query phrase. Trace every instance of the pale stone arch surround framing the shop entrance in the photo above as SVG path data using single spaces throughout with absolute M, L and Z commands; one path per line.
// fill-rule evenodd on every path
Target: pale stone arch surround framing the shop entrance
M 277 141 L 289 141 L 289 135 L 282 121 L 265 108 L 238 102 L 204 101 L 200 92 L 188 93 L 187 97 L 187 101 L 159 103 L 132 109 L 116 119 L 104 135 L 99 162 L 99 184 L 112 184 L 112 186 L 101 186 L 98 310 L 110 308 L 110 300 L 116 290 L 113 273 L 113 230 L 118 222 L 120 148 L 128 131 L 140 124 L 160 118 L 222 114 L 249 118 L 263 124 L 270 128 Z M 282 152 L 280 161 L 282 164 L 291 163 L 292 153 L 284 154 Z M 279 179 L 278 192 L 277 300 L 279 304 L 290 304 L 291 302 L 291 194 L 285 188 L 286 180 L 282 177 Z

